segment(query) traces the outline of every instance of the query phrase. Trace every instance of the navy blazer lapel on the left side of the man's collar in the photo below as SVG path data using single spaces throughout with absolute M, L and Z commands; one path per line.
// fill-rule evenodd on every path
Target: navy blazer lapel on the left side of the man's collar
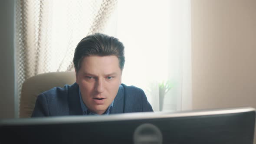
M 69 99 L 69 115 L 82 115 L 82 108 L 79 98 L 79 86 L 77 83 L 71 85 L 68 92 Z

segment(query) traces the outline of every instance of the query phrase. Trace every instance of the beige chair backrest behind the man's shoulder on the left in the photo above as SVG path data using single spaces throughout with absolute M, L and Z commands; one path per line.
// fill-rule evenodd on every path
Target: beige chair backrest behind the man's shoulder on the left
M 20 96 L 20 118 L 30 118 L 35 107 L 36 98 L 42 92 L 54 87 L 63 87 L 75 83 L 75 72 L 50 72 L 27 79 Z

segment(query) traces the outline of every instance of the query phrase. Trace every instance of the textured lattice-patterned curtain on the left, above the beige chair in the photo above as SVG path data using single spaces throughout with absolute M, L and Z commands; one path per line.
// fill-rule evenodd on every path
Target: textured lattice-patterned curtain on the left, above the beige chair
M 92 33 L 104 32 L 116 0 L 17 0 L 18 93 L 40 73 L 73 69 L 74 50 Z

